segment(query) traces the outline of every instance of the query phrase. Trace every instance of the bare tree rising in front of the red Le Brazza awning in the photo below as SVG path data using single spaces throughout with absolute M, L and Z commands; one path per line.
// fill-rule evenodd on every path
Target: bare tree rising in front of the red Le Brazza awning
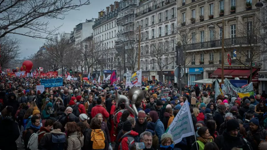
M 252 19 L 248 19 L 253 15 Z M 261 43 L 264 36 L 261 35 L 261 21 L 259 21 L 259 11 L 254 14 L 246 12 L 243 18 L 245 21 L 239 22 L 236 26 L 236 34 L 231 36 L 230 41 L 225 41 L 225 47 L 229 51 L 236 50 L 236 57 L 232 61 L 250 69 L 250 81 L 252 81 L 252 65 L 261 62 Z M 247 16 L 247 17 L 246 17 Z M 266 60 L 266 58 L 265 58 Z

